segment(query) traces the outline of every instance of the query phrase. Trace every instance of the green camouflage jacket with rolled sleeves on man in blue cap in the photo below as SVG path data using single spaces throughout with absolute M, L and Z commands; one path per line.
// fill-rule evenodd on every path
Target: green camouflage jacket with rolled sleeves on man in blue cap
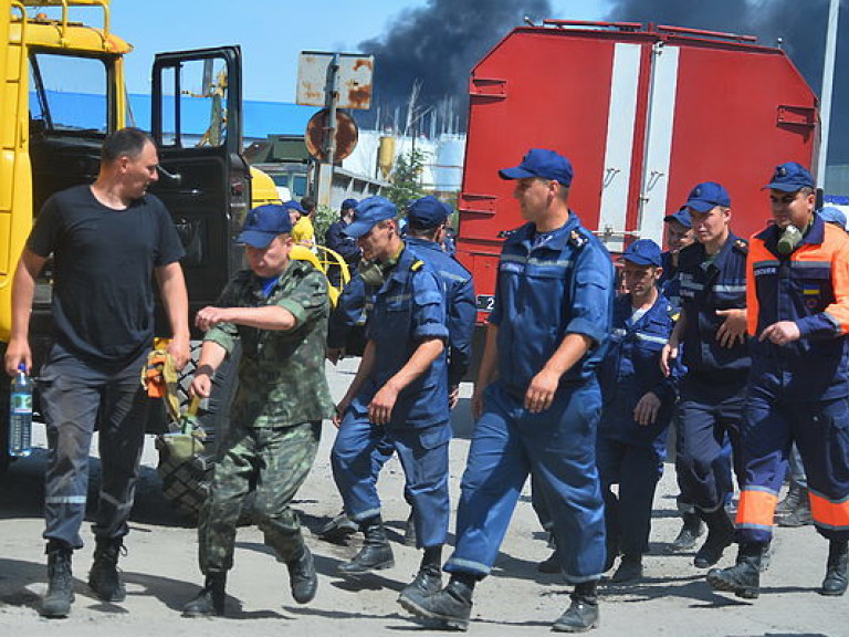
M 269 296 L 250 270 L 239 272 L 218 300 L 220 307 L 279 305 L 297 321 L 294 330 L 272 331 L 221 323 L 207 332 L 232 352 L 242 345 L 239 387 L 230 417 L 245 427 L 286 427 L 329 418 L 333 400 L 324 376 L 327 281 L 310 263 L 290 261 Z

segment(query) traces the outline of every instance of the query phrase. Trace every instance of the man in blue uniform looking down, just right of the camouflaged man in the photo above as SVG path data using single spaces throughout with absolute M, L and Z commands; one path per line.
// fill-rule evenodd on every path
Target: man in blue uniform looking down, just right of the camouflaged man
M 450 514 L 446 303 L 436 272 L 401 241 L 396 216 L 390 201 L 370 197 L 345 229 L 363 250 L 359 276 L 378 292 L 357 375 L 337 405 L 333 474 L 345 511 L 365 534 L 363 550 L 339 572 L 359 575 L 395 564 L 374 463 L 376 449 L 389 441 L 405 471 L 418 546 L 424 550 L 410 587 L 436 589 Z

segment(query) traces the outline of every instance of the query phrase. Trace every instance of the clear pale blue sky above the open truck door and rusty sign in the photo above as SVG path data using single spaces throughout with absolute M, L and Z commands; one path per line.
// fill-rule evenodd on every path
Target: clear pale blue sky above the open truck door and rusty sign
M 240 44 L 244 97 L 293 102 L 301 51 L 356 52 L 392 19 L 426 0 L 113 0 L 112 30 L 135 51 L 126 59 L 130 93 L 148 93 L 154 54 Z M 598 20 L 605 0 L 551 0 L 547 18 Z M 541 17 L 542 18 L 542 17 Z

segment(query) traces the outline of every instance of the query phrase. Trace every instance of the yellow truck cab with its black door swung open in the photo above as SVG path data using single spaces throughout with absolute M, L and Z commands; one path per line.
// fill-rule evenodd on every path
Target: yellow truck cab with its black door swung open
M 92 19 L 96 25 L 82 21 Z M 124 55 L 132 50 L 111 31 L 109 0 L 0 0 L 3 351 L 11 327 L 12 278 L 34 215 L 57 190 L 94 181 L 104 136 L 136 125 L 124 82 Z M 233 237 L 253 205 L 253 181 L 261 186 L 256 202 L 279 199 L 273 181 L 252 171 L 242 155 L 238 46 L 158 54 L 151 86 L 150 134 L 160 161 L 159 180 L 151 191 L 171 212 L 186 248 L 181 263 L 193 313 L 213 303 L 242 267 L 242 251 L 234 247 Z M 205 130 L 189 128 L 190 122 L 198 121 L 208 124 Z M 35 374 L 50 344 L 50 302 L 48 262 L 30 322 Z M 166 325 L 161 315 L 158 320 Z M 218 376 L 217 393 L 201 417 L 210 434 L 224 425 L 226 409 L 219 407 L 228 405 L 234 386 L 229 368 Z M 0 471 L 9 462 L 8 400 L 9 383 L 2 382 Z M 157 426 L 164 425 L 161 420 Z

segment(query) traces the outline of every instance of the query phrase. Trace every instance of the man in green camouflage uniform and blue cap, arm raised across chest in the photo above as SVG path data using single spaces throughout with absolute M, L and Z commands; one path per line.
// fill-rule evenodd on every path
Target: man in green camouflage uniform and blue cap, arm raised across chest
M 329 302 L 324 275 L 289 259 L 291 230 L 282 206 L 252 210 L 238 238 L 251 269 L 235 275 L 218 306 L 205 307 L 196 318 L 206 337 L 195 394 L 209 396 L 212 374 L 237 342 L 242 356 L 230 428 L 219 445 L 198 526 L 206 584 L 185 616 L 224 614 L 237 520 L 251 482 L 256 484 L 256 525 L 289 567 L 292 596 L 298 604 L 315 597 L 313 556 L 290 503 L 315 459 L 322 419 L 334 413 L 324 376 Z

